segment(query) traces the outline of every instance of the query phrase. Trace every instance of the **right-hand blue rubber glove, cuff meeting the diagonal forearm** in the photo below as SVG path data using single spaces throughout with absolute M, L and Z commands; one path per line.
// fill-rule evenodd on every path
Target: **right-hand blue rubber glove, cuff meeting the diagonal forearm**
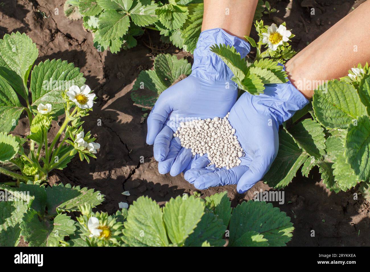
M 244 93 L 229 114 L 229 122 L 245 151 L 241 164 L 229 170 L 215 168 L 206 156 L 191 162 L 185 179 L 198 189 L 237 184 L 239 194 L 260 181 L 270 168 L 279 148 L 279 125 L 309 101 L 290 82 L 265 85 L 260 95 Z

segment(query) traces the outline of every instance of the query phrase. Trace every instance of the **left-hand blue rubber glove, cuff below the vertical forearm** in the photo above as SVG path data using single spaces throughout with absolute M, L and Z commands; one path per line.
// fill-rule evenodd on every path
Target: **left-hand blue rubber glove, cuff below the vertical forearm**
M 203 31 L 194 51 L 191 75 L 159 95 L 149 114 L 147 144 L 154 144 L 161 174 L 176 176 L 192 159 L 191 150 L 182 148 L 178 137 L 173 138 L 180 122 L 223 117 L 235 104 L 238 86 L 231 81 L 233 73 L 209 50 L 220 43 L 234 46 L 242 57 L 250 50 L 246 41 L 221 28 Z

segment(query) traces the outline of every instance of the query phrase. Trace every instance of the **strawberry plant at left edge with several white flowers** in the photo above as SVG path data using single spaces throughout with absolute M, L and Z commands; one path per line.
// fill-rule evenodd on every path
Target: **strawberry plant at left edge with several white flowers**
M 31 72 L 37 56 L 36 44 L 26 34 L 5 34 L 0 40 L 0 173 L 17 182 L 39 184 L 51 170 L 67 167 L 77 153 L 81 161 L 96 158 L 100 145 L 81 126 L 81 117 L 92 110 L 95 99 L 84 85 L 83 73 L 62 60 L 40 62 Z M 26 137 L 9 134 L 23 112 L 29 133 Z M 63 124 L 49 138 L 51 122 L 62 114 Z

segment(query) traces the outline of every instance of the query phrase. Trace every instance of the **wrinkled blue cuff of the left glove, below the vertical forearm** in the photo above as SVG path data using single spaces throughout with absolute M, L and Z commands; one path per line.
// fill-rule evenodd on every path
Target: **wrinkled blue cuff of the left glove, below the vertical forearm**
M 250 51 L 250 45 L 245 40 L 232 36 L 222 28 L 205 30 L 199 36 L 194 50 L 192 74 L 209 81 L 229 81 L 233 77 L 230 68 L 219 56 L 209 50 L 213 45 L 226 44 L 235 47 L 242 58 Z

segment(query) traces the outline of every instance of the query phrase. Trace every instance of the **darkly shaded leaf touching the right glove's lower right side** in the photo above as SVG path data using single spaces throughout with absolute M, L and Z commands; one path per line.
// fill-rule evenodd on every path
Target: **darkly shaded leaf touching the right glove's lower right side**
M 284 188 L 309 156 L 285 130 L 279 131 L 279 151 L 263 181 L 275 189 Z

